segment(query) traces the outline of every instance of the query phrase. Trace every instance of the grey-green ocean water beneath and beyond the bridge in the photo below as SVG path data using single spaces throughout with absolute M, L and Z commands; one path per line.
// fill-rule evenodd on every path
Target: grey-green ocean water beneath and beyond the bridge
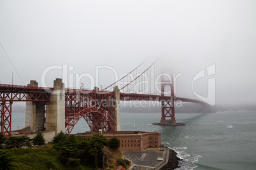
M 121 113 L 122 131 L 159 131 L 166 147 L 183 159 L 179 169 L 256 169 L 256 112 L 177 113 L 185 126 L 157 126 L 160 113 Z M 23 126 L 22 126 L 23 124 Z M 13 114 L 12 129 L 24 114 Z M 88 131 L 81 119 L 72 133 Z

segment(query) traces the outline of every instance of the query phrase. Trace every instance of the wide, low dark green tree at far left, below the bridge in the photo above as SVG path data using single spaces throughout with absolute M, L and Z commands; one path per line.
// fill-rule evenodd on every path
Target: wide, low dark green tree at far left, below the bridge
M 7 148 L 31 147 L 31 139 L 27 135 L 11 136 L 10 138 L 7 138 L 4 143 L 7 145 Z

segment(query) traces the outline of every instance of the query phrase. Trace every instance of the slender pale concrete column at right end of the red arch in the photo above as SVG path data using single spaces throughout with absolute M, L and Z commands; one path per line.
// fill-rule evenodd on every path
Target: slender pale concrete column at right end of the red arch
M 120 91 L 117 86 L 114 87 L 115 92 L 115 131 L 121 131 L 120 124 Z

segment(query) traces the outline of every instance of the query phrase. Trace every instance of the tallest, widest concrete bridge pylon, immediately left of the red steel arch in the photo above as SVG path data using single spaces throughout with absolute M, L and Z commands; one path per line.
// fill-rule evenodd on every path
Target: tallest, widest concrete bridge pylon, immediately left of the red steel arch
M 46 105 L 46 131 L 65 131 L 65 86 L 62 79 L 53 83 L 50 101 Z

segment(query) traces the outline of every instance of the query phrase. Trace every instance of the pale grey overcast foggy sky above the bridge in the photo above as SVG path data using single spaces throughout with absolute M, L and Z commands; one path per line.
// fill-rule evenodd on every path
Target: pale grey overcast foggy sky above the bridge
M 256 1 L 0 1 L 0 83 L 42 86 L 50 66 L 95 77 L 97 65 L 118 75 L 146 58 L 165 58 L 179 77 L 177 95 L 190 96 L 197 72 L 216 64 L 217 104 L 256 103 Z M 11 65 L 10 57 L 17 72 Z M 163 66 L 164 67 L 164 66 Z M 62 78 L 46 75 L 47 86 Z M 101 70 L 103 88 L 114 81 Z M 23 81 L 23 82 L 22 82 Z M 89 86 L 86 78 L 81 82 Z M 195 82 L 207 93 L 207 77 Z

